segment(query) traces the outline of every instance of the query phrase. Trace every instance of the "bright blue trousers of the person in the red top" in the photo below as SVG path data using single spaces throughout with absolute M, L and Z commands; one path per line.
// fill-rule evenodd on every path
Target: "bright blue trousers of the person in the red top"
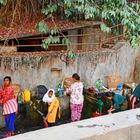
M 14 131 L 15 130 L 15 126 L 14 126 L 15 118 L 16 118 L 15 113 L 8 114 L 8 115 L 5 116 L 5 123 L 6 123 L 8 131 Z

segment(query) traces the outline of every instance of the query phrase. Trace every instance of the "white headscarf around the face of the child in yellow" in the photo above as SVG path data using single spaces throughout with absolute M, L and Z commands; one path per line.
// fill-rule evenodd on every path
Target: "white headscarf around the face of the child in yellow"
M 51 98 L 48 96 L 48 94 L 49 94 L 50 91 L 53 92 Z M 44 97 L 43 97 L 42 100 L 43 100 L 43 102 L 50 104 L 50 103 L 53 101 L 54 98 L 55 98 L 55 91 L 54 91 L 54 89 L 49 89 L 49 90 L 47 91 L 47 93 L 44 95 Z

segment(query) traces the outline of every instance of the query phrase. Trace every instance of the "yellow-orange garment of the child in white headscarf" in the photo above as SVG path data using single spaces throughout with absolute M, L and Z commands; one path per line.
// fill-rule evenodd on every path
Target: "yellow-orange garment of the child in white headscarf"
M 55 123 L 57 111 L 58 111 L 58 117 L 60 118 L 59 101 L 55 97 L 48 107 L 48 112 L 50 113 L 47 120 L 48 123 Z

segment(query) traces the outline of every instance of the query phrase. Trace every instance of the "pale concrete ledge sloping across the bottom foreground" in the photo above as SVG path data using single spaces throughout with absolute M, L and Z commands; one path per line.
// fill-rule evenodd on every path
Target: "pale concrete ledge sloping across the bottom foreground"
M 8 140 L 139 140 L 140 109 L 20 134 Z

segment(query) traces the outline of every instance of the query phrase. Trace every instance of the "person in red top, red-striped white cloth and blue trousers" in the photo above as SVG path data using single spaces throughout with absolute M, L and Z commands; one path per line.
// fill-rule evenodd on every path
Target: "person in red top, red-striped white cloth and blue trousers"
M 0 91 L 0 103 L 3 104 L 3 115 L 5 117 L 5 123 L 8 132 L 3 137 L 14 135 L 14 121 L 18 109 L 14 90 L 11 86 L 11 77 L 6 76 L 4 78 L 4 85 Z

